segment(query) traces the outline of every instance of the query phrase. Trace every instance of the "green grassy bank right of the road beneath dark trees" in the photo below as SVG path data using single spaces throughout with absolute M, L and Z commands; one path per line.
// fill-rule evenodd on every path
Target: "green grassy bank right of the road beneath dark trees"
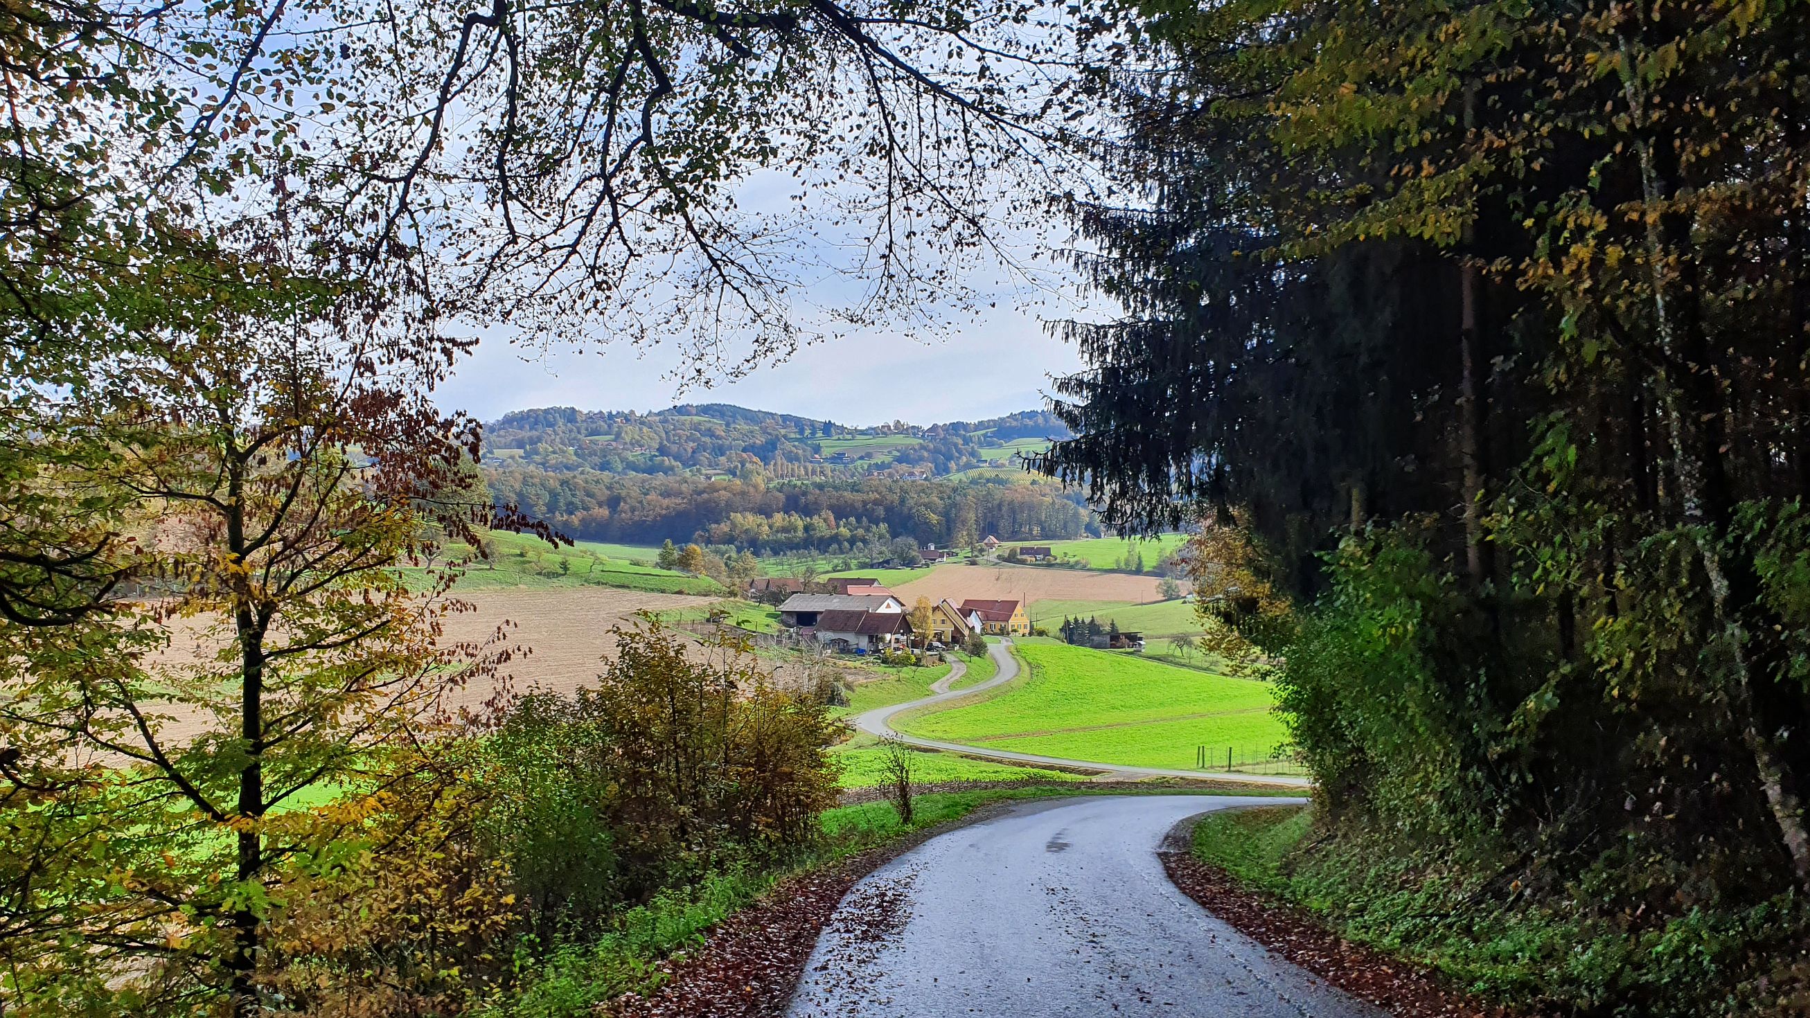
M 1747 1018 L 1810 1004 L 1803 902 L 1587 913 L 1564 904 L 1584 886 L 1535 897 L 1495 879 L 1508 872 L 1499 855 L 1417 850 L 1399 832 L 1327 835 L 1305 806 L 1213 814 L 1195 826 L 1193 857 L 1517 1013 Z

